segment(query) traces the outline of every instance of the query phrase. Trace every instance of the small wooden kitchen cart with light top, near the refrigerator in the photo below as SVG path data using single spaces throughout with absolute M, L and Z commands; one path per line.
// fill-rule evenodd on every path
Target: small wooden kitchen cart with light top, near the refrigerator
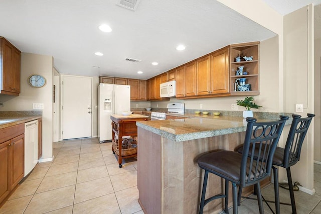
M 122 137 L 130 136 L 131 138 L 135 138 L 137 136 L 137 121 L 147 121 L 149 120 L 148 116 L 131 114 L 129 116 L 123 115 L 112 115 L 110 116 L 111 126 L 112 126 L 112 139 L 113 143 L 118 144 L 118 150 L 116 151 L 114 147 L 112 147 L 112 152 L 116 155 L 118 159 L 119 168 L 122 167 L 122 159 L 136 157 L 137 152 L 130 155 L 122 155 Z M 118 137 L 118 141 L 116 141 L 115 135 Z

